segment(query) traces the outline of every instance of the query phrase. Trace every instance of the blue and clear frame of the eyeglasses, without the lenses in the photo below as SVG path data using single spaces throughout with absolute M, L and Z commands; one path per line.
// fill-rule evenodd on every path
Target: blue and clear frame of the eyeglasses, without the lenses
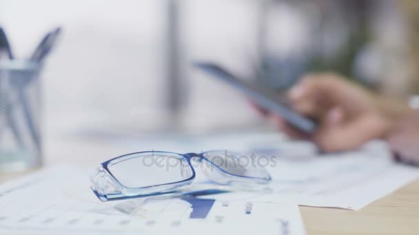
M 198 161 L 207 161 L 212 166 L 214 166 L 216 169 L 219 170 L 219 172 L 222 173 L 222 175 L 228 179 L 231 179 L 232 181 L 241 181 L 245 183 L 256 183 L 256 184 L 266 184 L 269 183 L 272 180 L 272 177 L 269 175 L 269 173 L 265 172 L 266 177 L 249 177 L 245 175 L 234 175 L 230 172 L 225 171 L 220 166 L 214 164 L 210 159 L 207 159 L 205 157 L 205 154 L 215 152 L 215 151 L 207 151 L 203 153 L 172 153 L 167 151 L 143 151 L 143 152 L 136 152 L 136 153 L 129 153 L 126 155 L 121 155 L 119 157 L 114 157 L 108 161 L 104 161 L 103 163 L 99 164 L 98 168 L 96 168 L 96 171 L 94 172 L 94 175 L 91 178 L 92 186 L 90 188 L 101 201 L 115 201 L 115 200 L 123 200 L 123 199 L 134 199 L 138 197 L 151 197 L 161 194 L 170 194 L 174 193 L 178 190 L 176 188 L 183 187 L 190 185 L 192 181 L 194 181 L 196 177 L 196 172 L 194 170 L 194 166 L 191 164 L 191 160 L 193 158 L 198 159 Z M 127 186 L 124 186 L 123 183 L 119 182 L 114 175 L 112 175 L 112 172 L 109 170 L 109 167 L 118 164 L 121 161 L 125 161 L 128 159 L 133 159 L 136 157 L 143 157 L 142 154 L 170 154 L 170 155 L 176 155 L 178 157 L 183 157 L 183 160 L 187 162 L 190 169 L 192 170 L 191 177 L 187 179 L 183 179 L 181 181 L 175 181 L 171 183 L 161 183 L 159 185 L 154 186 L 145 186 L 145 187 L 138 187 L 138 188 L 130 188 Z M 140 155 L 140 156 L 139 156 Z M 228 184 L 228 183 L 227 183 Z

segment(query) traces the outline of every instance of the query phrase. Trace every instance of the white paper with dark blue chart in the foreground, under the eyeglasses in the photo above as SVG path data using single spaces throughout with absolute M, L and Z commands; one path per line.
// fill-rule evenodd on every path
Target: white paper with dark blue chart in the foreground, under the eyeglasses
M 305 234 L 297 205 L 201 197 L 155 200 L 123 214 L 101 202 L 88 172 L 59 166 L 0 186 L 0 233 Z

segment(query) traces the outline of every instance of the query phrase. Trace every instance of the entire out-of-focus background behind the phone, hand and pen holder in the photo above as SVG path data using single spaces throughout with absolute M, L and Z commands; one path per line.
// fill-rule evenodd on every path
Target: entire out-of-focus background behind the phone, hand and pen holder
M 419 91 L 418 24 L 417 0 L 0 0 L 20 58 L 63 27 L 43 104 L 46 128 L 67 134 L 269 128 L 192 60 L 278 92 L 309 71 L 336 71 L 406 97 Z

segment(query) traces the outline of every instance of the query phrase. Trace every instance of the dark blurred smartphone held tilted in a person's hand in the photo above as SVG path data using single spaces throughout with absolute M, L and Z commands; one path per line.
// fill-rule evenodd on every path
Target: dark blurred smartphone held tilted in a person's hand
M 274 91 L 260 87 L 253 82 L 239 79 L 229 73 L 229 71 L 223 69 L 223 67 L 214 63 L 195 62 L 194 67 L 207 74 L 211 74 L 214 78 L 227 82 L 227 84 L 245 93 L 246 96 L 249 96 L 260 107 L 283 117 L 285 122 L 296 128 L 296 130 L 303 133 L 314 133 L 317 130 L 318 124 L 314 120 L 292 109 L 287 99 L 280 98 Z

